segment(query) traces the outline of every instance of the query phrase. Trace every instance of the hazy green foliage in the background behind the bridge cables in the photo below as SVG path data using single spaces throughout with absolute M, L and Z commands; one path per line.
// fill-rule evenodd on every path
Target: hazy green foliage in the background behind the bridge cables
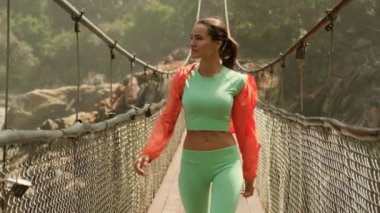
M 338 2 L 339 0 L 228 1 L 230 28 L 240 43 L 241 57 L 276 58 L 305 29 L 310 29 L 322 18 L 326 8 L 331 8 Z M 364 39 L 362 43 L 371 40 L 371 44 L 378 44 L 376 38 L 380 22 L 377 2 L 359 0 L 344 9 L 336 22 L 344 30 L 338 29 L 335 32 L 335 40 L 350 43 L 360 35 Z M 83 8 L 85 15 L 120 45 L 152 63 L 163 59 L 173 50 L 188 45 L 189 32 L 198 6 L 198 1 L 177 0 L 79 0 L 71 3 L 78 9 Z M 1 23 L 6 23 L 5 12 L 6 5 L 2 4 Z M 202 1 L 201 17 L 205 16 L 219 16 L 223 19 L 223 1 Z M 13 90 L 26 91 L 76 83 L 74 23 L 65 11 L 51 0 L 11 1 L 11 21 L 10 79 Z M 5 37 L 5 28 L 2 28 L 1 50 L 6 49 Z M 310 41 L 312 51 L 308 54 L 316 56 L 317 53 L 328 51 L 328 39 L 325 36 L 325 39 Z M 83 26 L 79 41 L 82 76 L 90 70 L 107 74 L 109 49 L 103 41 Z M 339 52 L 347 47 L 337 45 L 335 48 L 335 57 L 343 58 L 344 55 Z M 377 50 L 373 51 L 376 53 Z M 0 51 L 0 78 L 4 76 L 5 58 L 5 51 Z M 125 75 L 128 67 L 127 60 L 117 56 L 115 72 L 120 76 Z M 296 72 L 289 77 L 297 77 Z

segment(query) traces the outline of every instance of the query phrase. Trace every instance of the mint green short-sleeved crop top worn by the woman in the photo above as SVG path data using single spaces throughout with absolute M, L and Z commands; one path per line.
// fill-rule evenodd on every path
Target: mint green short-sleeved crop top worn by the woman
M 227 67 L 213 77 L 203 77 L 194 68 L 182 96 L 187 130 L 229 131 L 234 97 L 245 79 L 245 75 Z

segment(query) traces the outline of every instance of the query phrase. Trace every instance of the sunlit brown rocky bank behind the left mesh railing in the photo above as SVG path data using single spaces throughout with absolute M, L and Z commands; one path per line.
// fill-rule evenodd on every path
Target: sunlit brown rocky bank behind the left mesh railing
M 178 66 L 175 62 L 174 65 Z M 170 65 L 163 65 L 170 68 Z M 92 82 L 92 81 L 90 81 Z M 60 129 L 71 126 L 78 118 L 84 122 L 108 119 L 110 113 L 125 113 L 132 107 L 157 103 L 164 98 L 168 79 L 151 71 L 126 76 L 113 84 L 110 100 L 110 84 L 83 84 L 77 87 L 64 86 L 55 89 L 36 89 L 10 100 L 8 128 L 12 129 Z

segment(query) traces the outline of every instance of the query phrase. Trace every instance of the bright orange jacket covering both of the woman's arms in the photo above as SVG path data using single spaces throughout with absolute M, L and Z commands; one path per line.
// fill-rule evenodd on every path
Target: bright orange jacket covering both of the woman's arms
M 150 161 L 156 159 L 173 134 L 174 126 L 182 108 L 182 94 L 186 78 L 195 64 L 181 67 L 174 75 L 168 100 L 155 123 L 148 144 L 141 154 L 149 155 Z M 261 145 L 256 138 L 255 120 L 253 117 L 257 101 L 255 79 L 247 76 L 247 81 L 239 95 L 234 98 L 231 112 L 230 132 L 236 134 L 240 153 L 243 158 L 243 176 L 246 181 L 254 180 L 259 161 Z

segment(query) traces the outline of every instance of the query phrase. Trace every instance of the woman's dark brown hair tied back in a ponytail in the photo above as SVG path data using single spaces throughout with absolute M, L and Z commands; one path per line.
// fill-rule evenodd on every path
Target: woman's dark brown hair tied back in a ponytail
M 207 26 L 208 34 L 213 41 L 222 41 L 219 49 L 219 56 L 223 61 L 222 64 L 233 69 L 239 51 L 239 44 L 232 37 L 228 36 L 224 22 L 218 18 L 203 18 L 197 21 L 196 24 Z

